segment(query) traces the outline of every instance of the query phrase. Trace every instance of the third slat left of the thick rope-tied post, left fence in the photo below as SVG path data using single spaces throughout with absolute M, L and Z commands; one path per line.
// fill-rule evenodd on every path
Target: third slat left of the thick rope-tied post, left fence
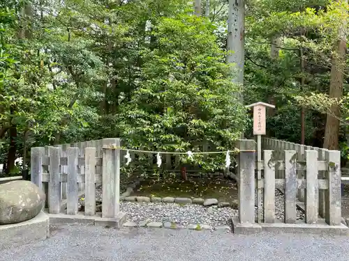
M 61 184 L 59 182 L 59 148 L 50 147 L 50 182 L 48 185 L 49 211 L 51 214 L 59 214 L 61 209 Z

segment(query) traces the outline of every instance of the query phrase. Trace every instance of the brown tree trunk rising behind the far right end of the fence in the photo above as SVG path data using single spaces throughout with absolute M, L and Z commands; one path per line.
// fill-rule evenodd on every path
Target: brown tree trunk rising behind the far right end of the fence
M 337 2 L 348 3 L 348 0 L 337 0 Z M 345 11 L 343 11 L 345 12 Z M 332 68 L 329 81 L 329 97 L 340 99 L 343 95 L 343 70 L 346 67 L 346 26 L 347 20 L 343 19 L 338 29 L 338 40 L 332 56 Z M 339 149 L 339 118 L 341 111 L 338 105 L 333 105 L 327 111 L 325 127 L 324 148 L 328 150 Z

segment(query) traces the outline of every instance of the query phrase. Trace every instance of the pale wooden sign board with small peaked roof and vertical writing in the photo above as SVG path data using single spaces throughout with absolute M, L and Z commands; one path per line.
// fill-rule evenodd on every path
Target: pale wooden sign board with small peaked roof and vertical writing
M 267 134 L 267 122 L 265 118 L 266 107 L 275 108 L 272 104 L 265 102 L 255 102 L 247 105 L 247 108 L 253 107 L 253 135 Z

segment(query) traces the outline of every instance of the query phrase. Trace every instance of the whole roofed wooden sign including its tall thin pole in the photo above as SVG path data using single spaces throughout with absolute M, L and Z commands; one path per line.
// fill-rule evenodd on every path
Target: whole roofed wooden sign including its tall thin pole
M 262 161 L 262 135 L 267 132 L 266 108 L 275 108 L 272 104 L 265 102 L 255 102 L 247 105 L 246 108 L 253 107 L 253 135 L 257 136 L 257 205 L 258 205 L 258 223 L 262 221 L 262 189 L 260 180 L 262 180 L 261 161 Z

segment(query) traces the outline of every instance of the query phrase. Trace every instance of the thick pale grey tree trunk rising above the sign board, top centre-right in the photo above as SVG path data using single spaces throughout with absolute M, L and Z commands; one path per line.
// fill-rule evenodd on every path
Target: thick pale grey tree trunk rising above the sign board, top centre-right
M 245 26 L 245 1 L 229 0 L 228 39 L 227 39 L 227 63 L 235 63 L 232 73 L 236 73 L 233 79 L 235 84 L 244 85 L 244 26 Z M 242 93 L 238 93 L 240 102 L 243 103 Z

